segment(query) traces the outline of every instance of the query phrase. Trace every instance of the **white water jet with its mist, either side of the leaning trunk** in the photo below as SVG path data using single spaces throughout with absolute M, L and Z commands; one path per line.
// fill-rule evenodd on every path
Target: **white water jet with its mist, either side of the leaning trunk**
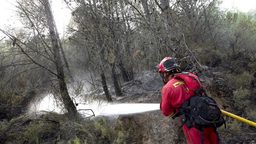
M 72 101 L 77 104 L 76 109 L 84 117 L 95 116 L 117 116 L 121 114 L 141 113 L 159 109 L 159 104 L 113 104 L 99 98 L 92 86 L 81 78 L 88 78 L 82 73 L 78 75 L 72 84 L 68 85 L 69 95 Z M 89 78 L 88 78 L 89 79 Z M 89 88 L 89 89 L 88 89 Z M 100 94 L 101 95 L 101 94 Z M 103 97 L 102 97 L 103 98 Z M 103 98 L 104 99 L 104 98 Z M 60 105 L 58 105 L 60 104 Z M 49 111 L 64 113 L 60 99 L 56 99 L 53 94 L 38 95 L 30 102 L 29 112 L 38 113 Z

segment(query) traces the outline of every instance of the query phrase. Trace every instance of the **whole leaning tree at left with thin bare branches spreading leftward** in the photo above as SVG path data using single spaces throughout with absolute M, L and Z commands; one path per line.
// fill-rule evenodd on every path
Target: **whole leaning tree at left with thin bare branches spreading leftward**
M 57 82 L 56 84 L 59 85 L 57 91 L 64 104 L 64 108 L 71 116 L 76 116 L 76 106 L 69 96 L 66 84 L 67 78 L 65 77 L 62 65 L 62 59 L 65 56 L 64 54 L 62 57 L 60 55 L 60 45 L 58 45 L 59 34 L 57 33 L 49 1 L 20 0 L 17 4 L 18 13 L 22 16 L 24 25 L 29 26 L 24 29 L 27 34 L 26 38 L 22 38 L 20 35 L 14 34 L 11 31 L 1 29 L 14 43 L 12 49 L 9 51 L 10 54 L 5 58 L 19 55 L 19 59 L 17 57 L 13 59 L 17 59 L 15 63 L 19 64 L 23 70 L 17 73 L 17 75 L 10 77 L 10 79 L 14 79 L 19 74 L 35 69 L 50 73 L 47 78 L 41 78 L 43 80 L 48 79 L 41 83 L 54 84 L 54 81 Z M 31 33 L 33 33 L 33 39 L 30 38 Z M 36 46 L 34 45 L 35 43 Z M 15 68 L 15 63 L 8 64 L 7 67 Z

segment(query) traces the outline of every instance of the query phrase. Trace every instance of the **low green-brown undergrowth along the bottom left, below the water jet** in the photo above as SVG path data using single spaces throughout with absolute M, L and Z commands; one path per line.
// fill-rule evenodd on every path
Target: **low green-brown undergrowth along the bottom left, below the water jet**
M 131 134 L 122 127 L 120 120 L 111 125 L 104 117 L 71 120 L 57 113 L 26 115 L 0 121 L 0 143 L 126 144 Z

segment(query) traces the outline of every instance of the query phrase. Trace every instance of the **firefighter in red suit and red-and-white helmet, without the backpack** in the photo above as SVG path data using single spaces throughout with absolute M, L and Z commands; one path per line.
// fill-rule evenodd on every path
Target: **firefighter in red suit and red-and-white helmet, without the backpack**
M 164 58 L 157 66 L 158 72 L 161 74 L 164 82 L 162 88 L 162 100 L 160 109 L 165 116 L 171 117 L 178 113 L 178 108 L 190 99 L 193 95 L 188 92 L 187 84 L 178 78 L 174 78 L 174 74 L 180 73 L 178 60 L 171 57 Z M 193 75 L 190 73 L 190 75 Z M 193 75 L 195 78 L 197 76 Z M 198 79 L 198 78 L 197 78 Z M 183 125 L 183 131 L 188 144 L 218 144 L 218 137 L 212 127 L 203 127 L 201 131 L 197 127 L 187 127 Z M 204 136 L 203 139 L 201 138 Z

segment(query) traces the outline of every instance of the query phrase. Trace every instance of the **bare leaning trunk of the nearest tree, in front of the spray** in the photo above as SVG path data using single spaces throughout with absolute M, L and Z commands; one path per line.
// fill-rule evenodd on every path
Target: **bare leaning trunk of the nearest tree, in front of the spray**
M 46 12 L 46 16 L 47 16 L 47 24 L 48 24 L 49 30 L 50 30 L 50 37 L 51 37 L 51 42 L 52 42 L 52 49 L 54 52 L 55 66 L 56 66 L 56 70 L 58 73 L 57 78 L 59 81 L 60 95 L 61 95 L 61 98 L 64 102 L 64 106 L 65 106 L 66 110 L 68 111 L 68 113 L 71 114 L 72 116 L 76 116 L 76 113 L 77 113 L 76 106 L 74 105 L 73 101 L 71 100 L 71 98 L 69 96 L 69 92 L 66 87 L 65 75 L 64 75 L 62 61 L 61 61 L 60 54 L 59 54 L 59 47 L 58 47 L 58 40 L 57 40 L 58 33 L 56 33 L 56 31 L 55 31 L 50 3 L 48 0 L 42 0 L 42 2 L 45 7 L 45 12 Z

